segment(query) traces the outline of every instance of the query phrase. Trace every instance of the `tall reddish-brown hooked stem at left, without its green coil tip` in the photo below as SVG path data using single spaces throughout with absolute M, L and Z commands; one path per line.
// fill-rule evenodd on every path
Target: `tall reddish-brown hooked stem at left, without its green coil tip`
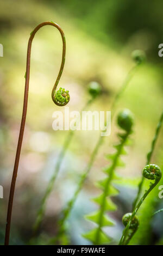
M 8 213 L 7 213 L 7 223 L 6 223 L 6 229 L 5 229 L 5 245 L 9 245 L 9 237 L 10 237 L 10 225 L 11 225 L 11 215 L 12 215 L 12 205 L 13 205 L 13 200 L 14 200 L 14 191 L 15 191 L 15 184 L 16 184 L 16 177 L 17 177 L 17 169 L 18 169 L 18 163 L 20 160 L 20 153 L 21 153 L 21 147 L 22 147 L 22 140 L 23 140 L 23 134 L 24 134 L 24 126 L 26 123 L 26 114 L 27 114 L 27 105 L 28 105 L 28 89 L 29 89 L 29 74 L 30 74 L 30 53 L 31 53 L 31 47 L 32 47 L 32 41 L 33 38 L 36 34 L 36 32 L 43 26 L 46 25 L 51 25 L 55 28 L 57 28 L 61 34 L 62 38 L 62 61 L 61 61 L 61 66 L 59 70 L 59 74 L 57 76 L 57 80 L 54 83 L 54 87 L 52 90 L 52 100 L 54 101 L 55 104 L 57 102 L 54 99 L 54 93 L 57 88 L 57 85 L 59 83 L 62 70 L 64 69 L 64 64 L 65 64 L 65 54 L 66 54 L 66 40 L 65 40 L 65 35 L 60 26 L 57 23 L 53 22 L 43 22 L 40 23 L 34 31 L 30 34 L 30 38 L 28 41 L 28 49 L 27 49 L 27 65 L 26 65 L 26 83 L 25 83 L 25 90 L 24 90 L 24 102 L 23 102 L 23 113 L 22 113 L 22 120 L 21 120 L 21 127 L 20 127 L 20 133 L 18 137 L 18 144 L 17 144 L 17 150 L 16 150 L 16 157 L 15 157 L 15 164 L 14 164 L 14 170 L 12 174 L 12 180 L 11 180 L 11 186 L 10 186 L 10 196 L 9 196 L 9 203 L 8 203 Z M 58 104 L 57 104 L 58 105 Z M 63 105 L 62 105 L 63 106 Z

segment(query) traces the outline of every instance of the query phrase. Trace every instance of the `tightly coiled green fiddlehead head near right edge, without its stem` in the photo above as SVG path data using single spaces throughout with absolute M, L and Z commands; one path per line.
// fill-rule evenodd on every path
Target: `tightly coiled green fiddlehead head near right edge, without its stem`
M 149 180 L 160 180 L 162 176 L 161 169 L 156 164 L 147 164 L 143 168 L 143 176 Z

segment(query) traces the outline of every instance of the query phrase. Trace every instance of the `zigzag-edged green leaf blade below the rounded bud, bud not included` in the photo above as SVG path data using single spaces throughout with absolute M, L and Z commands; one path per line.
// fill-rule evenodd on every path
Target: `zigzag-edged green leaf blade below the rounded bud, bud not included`
M 129 135 L 130 132 L 118 134 L 120 143 L 115 146 L 116 153 L 106 155 L 106 159 L 111 160 L 111 164 L 103 168 L 106 178 L 99 180 L 96 184 L 103 192 L 98 197 L 92 199 L 93 202 L 99 205 L 99 210 L 85 216 L 86 220 L 92 221 L 97 225 L 97 228 L 83 235 L 83 237 L 90 240 L 94 245 L 101 245 L 111 241 L 110 237 L 106 236 L 102 229 L 103 227 L 115 224 L 114 221 L 106 215 L 106 211 L 115 211 L 117 209 L 116 205 L 110 199 L 110 197 L 117 196 L 118 194 L 117 188 L 115 188 L 112 183 L 114 180 L 119 180 L 115 169 L 124 166 L 120 156 L 127 154 L 124 145 L 126 145 Z

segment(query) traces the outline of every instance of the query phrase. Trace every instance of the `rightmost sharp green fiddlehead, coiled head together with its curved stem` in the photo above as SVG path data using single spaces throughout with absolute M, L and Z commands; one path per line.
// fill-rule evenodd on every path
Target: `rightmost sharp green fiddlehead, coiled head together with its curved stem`
M 153 182 L 150 182 L 149 184 L 149 188 L 147 191 L 145 191 L 145 194 L 142 196 L 142 198 L 140 199 L 139 203 L 137 203 L 137 205 L 135 206 L 133 213 L 131 214 L 129 221 L 127 223 L 126 228 L 123 230 L 123 234 L 120 240 L 119 245 L 124 245 L 125 241 L 127 239 L 127 235 L 128 235 L 128 230 L 130 228 L 130 225 L 135 217 L 136 212 L 139 210 L 141 204 L 143 203 L 143 201 L 145 200 L 145 198 L 148 196 L 148 194 L 153 190 L 153 188 L 158 184 L 158 182 L 161 179 L 162 173 L 161 173 L 161 169 L 159 166 L 157 166 L 156 164 L 147 164 L 147 166 L 145 166 L 143 168 L 142 171 L 143 177 L 149 180 L 154 180 Z

